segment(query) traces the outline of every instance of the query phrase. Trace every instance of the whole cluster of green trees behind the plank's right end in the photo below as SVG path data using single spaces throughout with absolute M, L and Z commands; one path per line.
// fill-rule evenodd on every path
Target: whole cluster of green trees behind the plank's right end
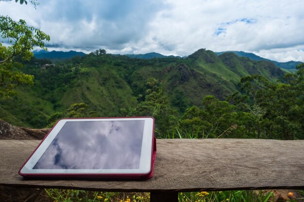
M 254 117 L 257 138 L 303 139 L 303 72 L 286 74 L 283 82 L 270 83 L 258 75 L 245 77 L 239 83 L 242 98 L 230 97 L 239 110 Z

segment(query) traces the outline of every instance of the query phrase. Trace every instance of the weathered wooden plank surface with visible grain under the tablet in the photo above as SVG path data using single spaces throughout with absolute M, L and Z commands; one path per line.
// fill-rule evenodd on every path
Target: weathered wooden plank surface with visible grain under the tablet
M 39 142 L 0 140 L 0 185 L 124 192 L 304 189 L 304 140 L 157 140 L 154 175 L 142 181 L 19 176 Z

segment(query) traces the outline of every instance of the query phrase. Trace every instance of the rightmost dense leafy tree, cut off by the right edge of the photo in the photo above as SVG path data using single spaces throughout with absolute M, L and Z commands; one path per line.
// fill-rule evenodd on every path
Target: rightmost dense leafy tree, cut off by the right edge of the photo
M 265 114 L 269 120 L 265 128 L 270 138 L 294 140 L 303 137 L 304 64 L 299 64 L 297 69 L 295 74 L 285 75 L 285 83 L 276 84 L 272 89 L 271 104 Z

